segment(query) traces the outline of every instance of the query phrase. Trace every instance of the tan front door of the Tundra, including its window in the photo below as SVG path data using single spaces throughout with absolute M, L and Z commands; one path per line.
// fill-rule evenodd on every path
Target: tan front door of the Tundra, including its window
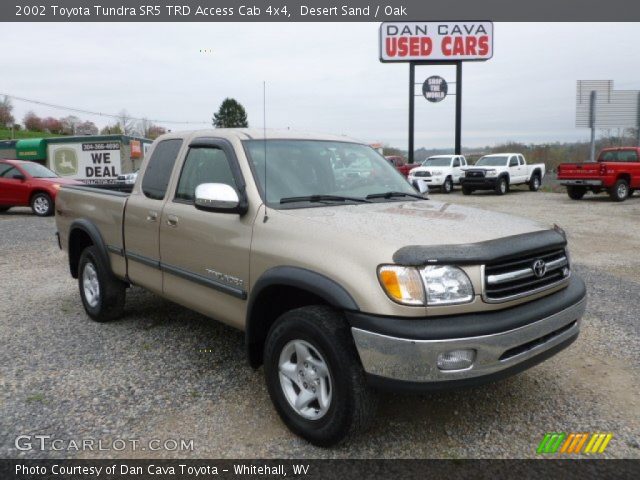
M 224 183 L 245 198 L 245 182 L 232 145 L 195 139 L 162 211 L 160 257 L 164 295 L 222 322 L 242 327 L 249 284 L 253 218 L 199 210 L 195 189 Z

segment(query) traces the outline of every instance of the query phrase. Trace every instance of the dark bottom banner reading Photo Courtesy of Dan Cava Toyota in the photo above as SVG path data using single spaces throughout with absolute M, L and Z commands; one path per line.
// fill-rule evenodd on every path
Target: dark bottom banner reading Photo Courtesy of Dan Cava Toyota
M 0 460 L 2 480 L 637 479 L 640 460 Z

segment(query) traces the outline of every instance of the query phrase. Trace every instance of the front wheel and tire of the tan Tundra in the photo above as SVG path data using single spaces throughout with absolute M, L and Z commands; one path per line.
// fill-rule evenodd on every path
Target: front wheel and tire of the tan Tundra
M 293 353 L 298 351 L 310 361 L 298 362 Z M 318 374 L 325 367 L 328 374 Z M 351 331 L 329 307 L 302 307 L 280 316 L 267 336 L 264 369 L 280 418 L 314 445 L 335 445 L 366 429 L 375 416 L 377 395 L 366 384 Z M 291 377 L 281 373 L 286 371 Z M 307 399 L 306 407 L 296 410 L 300 398 Z

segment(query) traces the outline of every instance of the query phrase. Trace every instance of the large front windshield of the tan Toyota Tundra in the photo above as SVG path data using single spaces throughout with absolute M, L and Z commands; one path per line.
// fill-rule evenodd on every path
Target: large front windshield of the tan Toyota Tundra
M 309 201 L 292 202 L 296 197 L 351 197 L 343 203 L 356 203 L 367 195 L 416 190 L 380 154 L 356 143 L 320 140 L 247 140 L 243 142 L 254 174 L 265 191 L 265 147 L 267 153 L 267 204 L 287 208 L 308 207 Z M 376 201 L 407 200 L 394 196 Z M 331 199 L 321 200 L 330 202 Z

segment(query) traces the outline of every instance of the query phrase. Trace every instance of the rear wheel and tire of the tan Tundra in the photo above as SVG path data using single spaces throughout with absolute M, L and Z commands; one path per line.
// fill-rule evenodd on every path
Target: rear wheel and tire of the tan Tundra
M 80 255 L 78 288 L 87 315 L 96 322 L 115 320 L 124 313 L 126 284 L 109 271 L 95 245 Z

